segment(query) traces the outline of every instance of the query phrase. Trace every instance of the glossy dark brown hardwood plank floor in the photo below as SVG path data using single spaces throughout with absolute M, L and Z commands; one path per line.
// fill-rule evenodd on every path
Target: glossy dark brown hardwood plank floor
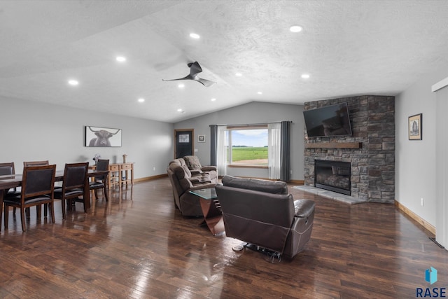
M 28 231 L 9 211 L 0 235 L 0 298 L 415 298 L 416 288 L 447 287 L 448 251 L 392 204 L 316 201 L 311 240 L 293 260 L 232 251 L 200 218 L 174 209 L 168 179 L 136 183 L 77 203 L 62 221 L 36 219 Z M 425 270 L 438 281 L 425 281 Z

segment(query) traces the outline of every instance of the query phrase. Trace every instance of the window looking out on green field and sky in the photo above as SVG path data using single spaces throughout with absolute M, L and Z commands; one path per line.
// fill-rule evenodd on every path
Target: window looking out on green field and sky
M 228 165 L 267 167 L 267 137 L 267 125 L 228 127 Z

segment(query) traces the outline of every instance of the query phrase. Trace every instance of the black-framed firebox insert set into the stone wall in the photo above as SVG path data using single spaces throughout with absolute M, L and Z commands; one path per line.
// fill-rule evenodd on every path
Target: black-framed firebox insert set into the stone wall
M 314 160 L 314 186 L 351 195 L 350 162 Z

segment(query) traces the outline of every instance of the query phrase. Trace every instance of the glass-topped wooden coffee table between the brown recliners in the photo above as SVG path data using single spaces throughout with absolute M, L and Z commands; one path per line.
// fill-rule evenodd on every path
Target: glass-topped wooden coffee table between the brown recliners
M 207 224 L 214 236 L 225 232 L 221 205 L 216 196 L 215 188 L 191 190 L 190 193 L 200 198 L 202 214 L 204 214 L 204 221 L 201 225 Z

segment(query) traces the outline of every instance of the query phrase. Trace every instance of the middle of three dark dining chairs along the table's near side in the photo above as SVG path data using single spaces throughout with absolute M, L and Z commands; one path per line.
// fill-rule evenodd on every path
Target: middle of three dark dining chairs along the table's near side
M 61 200 L 62 202 L 63 219 L 66 218 L 65 203 L 67 202 L 67 208 L 71 209 L 72 200 L 80 202 L 79 197 L 84 195 L 88 168 L 89 162 L 66 163 L 65 165 L 62 188 L 55 188 L 55 199 Z M 85 205 L 84 211 L 87 213 Z

